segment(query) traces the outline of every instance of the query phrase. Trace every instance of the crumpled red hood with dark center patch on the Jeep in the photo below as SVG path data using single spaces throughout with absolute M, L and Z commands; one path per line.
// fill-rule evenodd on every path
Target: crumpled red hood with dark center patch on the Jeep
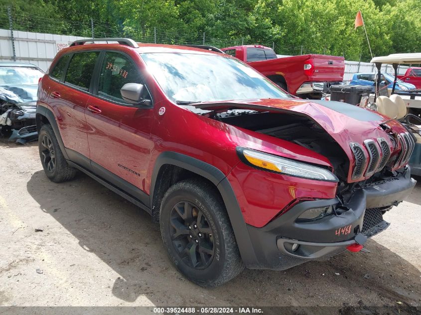
M 294 112 L 297 115 L 305 115 L 318 123 L 332 136 L 348 156 L 351 166 L 354 165 L 354 156 L 350 146 L 351 142 L 357 142 L 364 147 L 365 140 L 370 139 L 376 142 L 378 138 L 384 138 L 393 154 L 393 151 L 397 148 L 395 148 L 395 145 L 381 124 L 386 123 L 394 133 L 407 131 L 395 119 L 390 119 L 378 112 L 356 105 L 335 101 L 261 99 L 198 103 L 192 104 L 192 106 L 200 110 L 242 108 L 259 111 Z M 366 152 L 366 155 L 368 156 L 368 152 Z M 349 178 L 349 181 L 351 182 L 352 180 Z

